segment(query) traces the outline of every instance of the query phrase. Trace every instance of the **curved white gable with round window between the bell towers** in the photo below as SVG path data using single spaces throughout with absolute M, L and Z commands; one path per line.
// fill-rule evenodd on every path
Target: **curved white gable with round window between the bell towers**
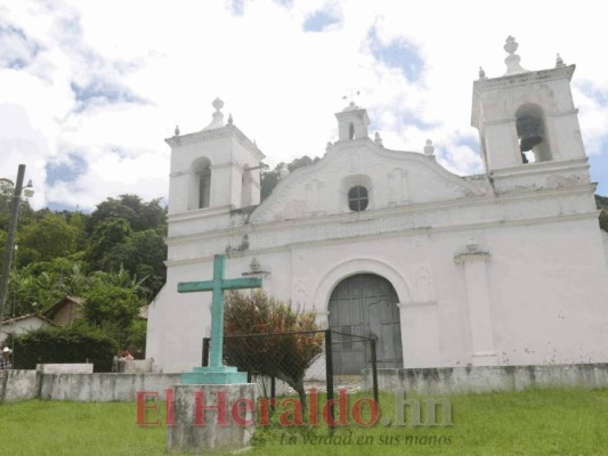
M 250 223 L 350 213 L 348 189 L 356 185 L 368 189 L 368 211 L 486 192 L 485 182 L 469 182 L 426 155 L 391 151 L 371 140 L 348 141 L 281 180 Z

